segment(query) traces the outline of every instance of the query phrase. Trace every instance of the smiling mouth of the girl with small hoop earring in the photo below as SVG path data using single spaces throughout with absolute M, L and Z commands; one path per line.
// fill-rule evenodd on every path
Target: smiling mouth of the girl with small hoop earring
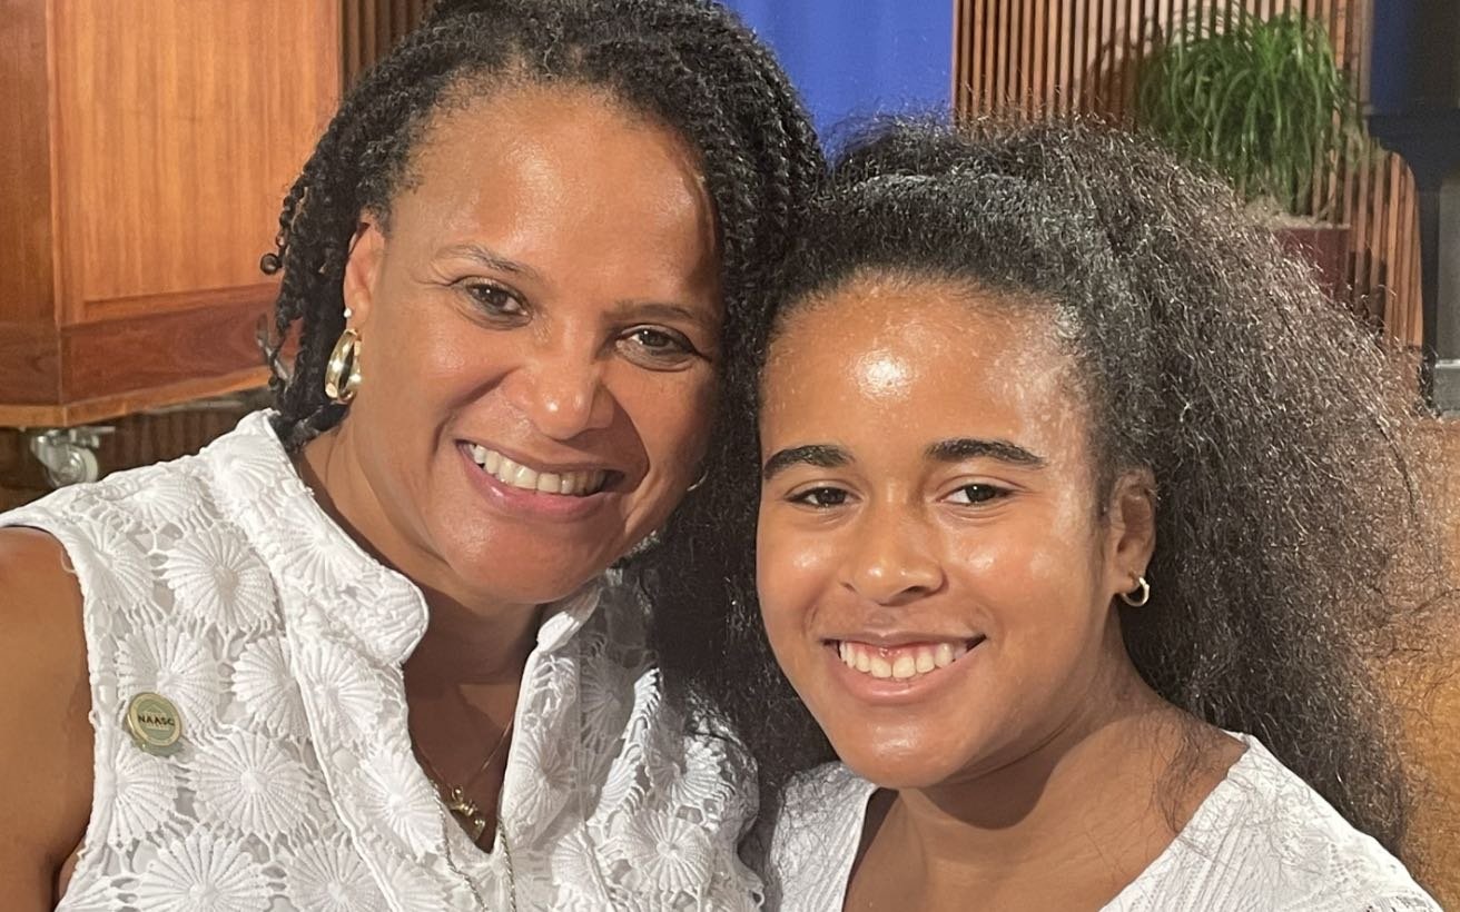
M 978 646 L 983 644 L 983 636 L 961 644 L 924 641 L 892 648 L 828 641 L 823 652 L 828 674 L 853 699 L 873 706 L 907 706 L 937 696 L 962 680 L 978 662 Z M 858 670 L 861 665 L 867 670 Z

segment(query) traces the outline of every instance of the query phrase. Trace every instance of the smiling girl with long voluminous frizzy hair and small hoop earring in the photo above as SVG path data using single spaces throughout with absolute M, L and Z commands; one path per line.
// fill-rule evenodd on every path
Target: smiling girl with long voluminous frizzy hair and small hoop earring
M 772 906 L 1437 908 L 1362 665 L 1431 541 L 1406 381 L 1229 191 L 1079 127 L 896 128 L 788 285 L 755 582 L 835 754 L 734 553 L 724 606 L 661 606 L 729 617 L 734 680 L 667 673 L 800 773 Z

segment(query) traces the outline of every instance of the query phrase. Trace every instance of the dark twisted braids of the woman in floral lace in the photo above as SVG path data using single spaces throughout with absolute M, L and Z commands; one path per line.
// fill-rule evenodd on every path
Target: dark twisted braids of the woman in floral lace
M 816 136 L 769 51 L 710 0 L 438 0 L 350 90 L 279 215 L 283 270 L 269 359 L 298 324 L 276 376 L 276 429 L 291 449 L 345 414 L 324 395 L 345 328 L 342 277 L 361 213 L 388 223 L 432 118 L 524 83 L 603 90 L 677 131 L 714 203 L 731 344 L 759 320 L 775 264 L 823 177 Z

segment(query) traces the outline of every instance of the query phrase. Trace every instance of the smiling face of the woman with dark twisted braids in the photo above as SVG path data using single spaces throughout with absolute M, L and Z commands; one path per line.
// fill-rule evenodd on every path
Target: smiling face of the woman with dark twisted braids
M 447 107 L 403 184 L 345 280 L 366 536 L 457 598 L 562 597 L 664 521 L 704 452 L 721 302 L 694 155 L 602 95 L 529 86 Z

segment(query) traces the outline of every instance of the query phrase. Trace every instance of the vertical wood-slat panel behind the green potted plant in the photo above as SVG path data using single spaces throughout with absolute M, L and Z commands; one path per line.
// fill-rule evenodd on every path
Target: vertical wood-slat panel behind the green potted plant
M 961 117 L 1095 115 L 1134 125 L 1142 57 L 1172 25 L 1245 7 L 1321 20 L 1361 99 L 1372 0 L 955 0 L 953 104 Z M 1329 177 L 1349 226 L 1342 298 L 1393 336 L 1424 341 L 1419 212 L 1405 162 L 1381 153 Z

